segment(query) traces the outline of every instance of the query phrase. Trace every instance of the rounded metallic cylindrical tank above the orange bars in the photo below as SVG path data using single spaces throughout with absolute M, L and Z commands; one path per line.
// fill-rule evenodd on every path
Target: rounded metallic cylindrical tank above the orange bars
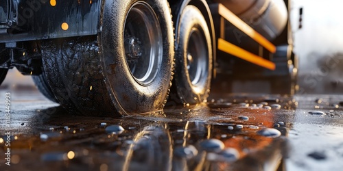
M 274 40 L 287 25 L 283 0 L 213 0 L 222 3 L 268 40 Z

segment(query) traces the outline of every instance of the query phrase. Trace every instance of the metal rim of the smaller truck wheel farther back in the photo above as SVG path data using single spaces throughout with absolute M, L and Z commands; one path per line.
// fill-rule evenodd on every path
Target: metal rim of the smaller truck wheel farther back
M 189 79 L 193 86 L 204 86 L 206 82 L 207 70 L 207 51 L 204 35 L 199 29 L 193 28 L 189 34 L 187 47 L 187 70 Z

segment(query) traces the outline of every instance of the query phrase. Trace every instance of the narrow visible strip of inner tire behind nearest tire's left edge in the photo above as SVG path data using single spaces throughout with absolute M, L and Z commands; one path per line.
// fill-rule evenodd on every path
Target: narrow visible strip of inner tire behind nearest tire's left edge
M 45 73 L 43 71 L 40 75 L 33 75 L 32 80 L 34 81 L 34 84 L 38 88 L 38 90 L 50 101 L 53 101 L 55 103 L 58 103 L 57 99 L 55 98 L 54 93 L 52 92 L 49 83 L 47 83 L 47 77 L 45 76 Z

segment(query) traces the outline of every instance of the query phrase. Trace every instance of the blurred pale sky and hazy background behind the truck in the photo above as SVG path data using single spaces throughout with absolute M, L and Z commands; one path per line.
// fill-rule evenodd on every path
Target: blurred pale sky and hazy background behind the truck
M 343 1 L 296 0 L 294 46 L 299 57 L 298 94 L 343 93 Z M 303 8 L 302 21 L 299 9 Z M 299 29 L 301 25 L 301 29 Z M 10 70 L 2 89 L 33 88 L 31 77 Z

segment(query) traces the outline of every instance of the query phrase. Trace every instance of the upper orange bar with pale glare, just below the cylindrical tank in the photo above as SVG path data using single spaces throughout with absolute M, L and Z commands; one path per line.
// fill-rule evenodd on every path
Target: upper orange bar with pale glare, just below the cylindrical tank
M 254 39 L 256 42 L 261 44 L 265 49 L 268 49 L 271 53 L 275 53 L 276 47 L 270 41 L 265 39 L 261 34 L 257 33 L 252 27 L 244 23 L 238 16 L 230 12 L 224 5 L 218 5 L 218 13 L 223 16 L 227 21 L 235 25 L 238 29 L 243 31 L 246 35 L 250 36 L 250 38 Z

